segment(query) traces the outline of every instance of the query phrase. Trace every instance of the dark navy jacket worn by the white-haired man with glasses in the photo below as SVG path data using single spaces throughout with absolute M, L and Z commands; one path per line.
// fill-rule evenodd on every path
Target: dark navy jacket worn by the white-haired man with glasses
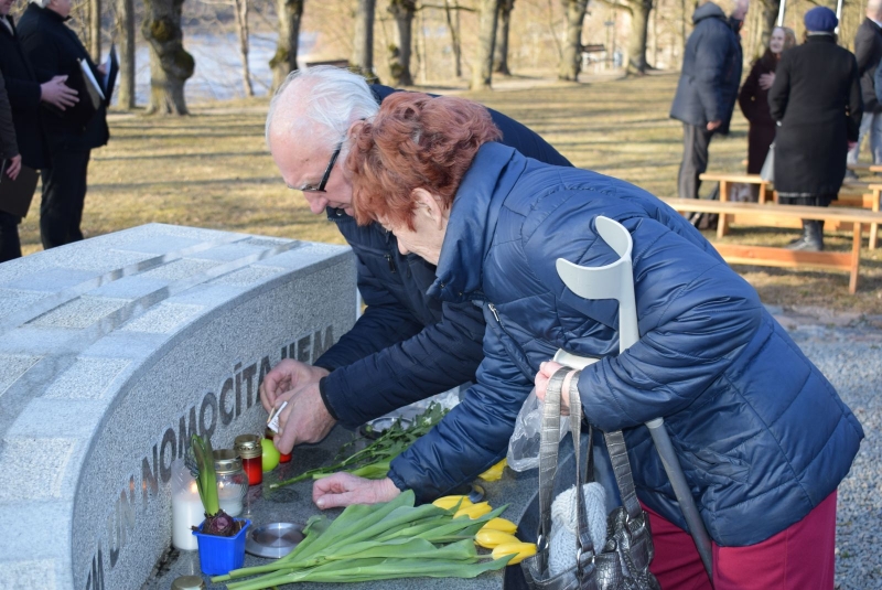
M 377 103 L 397 92 L 372 87 Z M 537 160 L 571 165 L 537 133 L 487 109 L 502 142 Z M 327 210 L 357 256 L 358 290 L 367 308 L 355 326 L 315 361 L 332 369 L 322 398 L 341 425 L 355 428 L 396 408 L 474 379 L 483 358 L 485 323 L 471 302 L 442 303 L 427 290 L 435 267 L 401 255 L 379 224 L 359 227 L 342 210 Z

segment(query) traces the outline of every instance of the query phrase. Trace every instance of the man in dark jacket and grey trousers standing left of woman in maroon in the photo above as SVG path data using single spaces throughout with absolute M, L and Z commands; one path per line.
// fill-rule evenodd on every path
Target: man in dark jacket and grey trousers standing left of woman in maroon
M 744 19 L 746 3 L 739 3 L 732 21 Z M 728 133 L 741 83 L 741 43 L 713 2 L 692 14 L 695 29 L 686 43 L 682 72 L 670 117 L 682 121 L 684 152 L 677 176 L 677 194 L 698 199 L 698 176 L 708 168 L 708 148 L 713 133 Z

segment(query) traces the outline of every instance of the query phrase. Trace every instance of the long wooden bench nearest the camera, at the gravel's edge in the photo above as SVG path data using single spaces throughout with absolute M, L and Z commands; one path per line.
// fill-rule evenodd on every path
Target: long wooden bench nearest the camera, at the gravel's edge
M 788 250 L 768 246 L 747 246 L 714 243 L 713 247 L 725 259 L 735 265 L 759 265 L 774 267 L 805 267 L 838 270 L 849 273 L 848 292 L 858 290 L 860 267 L 861 227 L 882 222 L 882 213 L 849 207 L 804 207 L 760 203 L 730 203 L 700 199 L 663 199 L 679 213 L 717 213 L 722 221 L 728 215 L 751 215 L 756 219 L 833 219 L 852 225 L 850 253 Z M 719 232 L 718 232 L 719 234 Z

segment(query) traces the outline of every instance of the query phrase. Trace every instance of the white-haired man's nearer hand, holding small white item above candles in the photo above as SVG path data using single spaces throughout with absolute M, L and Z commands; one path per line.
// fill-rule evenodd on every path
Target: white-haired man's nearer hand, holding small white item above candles
M 318 383 L 309 383 L 282 394 L 278 404 L 281 405 L 283 400 L 288 401 L 288 406 L 279 414 L 280 430 L 272 439 L 282 454 L 290 453 L 301 442 L 319 442 L 336 423 L 322 401 Z

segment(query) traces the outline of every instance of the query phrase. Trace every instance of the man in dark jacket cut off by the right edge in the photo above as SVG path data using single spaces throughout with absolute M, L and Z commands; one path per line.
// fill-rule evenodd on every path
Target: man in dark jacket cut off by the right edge
M 854 57 L 858 60 L 858 75 L 861 77 L 863 117 L 861 117 L 858 143 L 848 152 L 848 163 L 858 162 L 863 138 L 870 133 L 873 163 L 880 164 L 882 163 L 882 105 L 875 97 L 874 75 L 879 63 L 882 62 L 882 0 L 867 2 L 867 18 L 854 35 Z

